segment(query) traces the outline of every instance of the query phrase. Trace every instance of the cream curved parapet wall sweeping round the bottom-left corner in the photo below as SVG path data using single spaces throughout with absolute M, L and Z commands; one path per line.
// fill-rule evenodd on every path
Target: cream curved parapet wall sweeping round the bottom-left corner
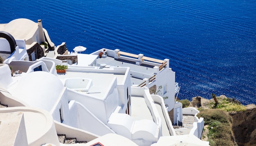
M 52 115 L 47 111 L 32 107 L 0 108 L 0 113 L 13 112 L 20 112 L 24 114 L 27 143 L 29 146 L 40 146 L 46 143 L 60 146 Z

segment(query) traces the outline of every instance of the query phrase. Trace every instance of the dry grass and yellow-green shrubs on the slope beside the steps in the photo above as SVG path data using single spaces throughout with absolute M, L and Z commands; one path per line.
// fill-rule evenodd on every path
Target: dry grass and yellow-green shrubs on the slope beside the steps
M 246 107 L 224 95 L 211 100 L 201 98 L 201 104 L 198 117 L 204 117 L 205 125 L 202 140 L 211 146 L 237 146 L 229 113 L 245 111 Z

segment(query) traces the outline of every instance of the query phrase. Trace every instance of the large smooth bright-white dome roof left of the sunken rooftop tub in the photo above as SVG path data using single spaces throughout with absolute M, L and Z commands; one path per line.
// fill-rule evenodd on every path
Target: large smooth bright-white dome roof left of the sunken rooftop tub
M 27 105 L 51 111 L 64 90 L 61 80 L 51 73 L 35 71 L 24 75 L 9 92 Z

